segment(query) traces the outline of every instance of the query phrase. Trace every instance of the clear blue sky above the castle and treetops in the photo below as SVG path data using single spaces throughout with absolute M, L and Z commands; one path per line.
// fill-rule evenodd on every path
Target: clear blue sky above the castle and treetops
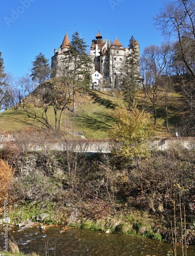
M 168 0 L 167 0 L 168 1 Z M 0 51 L 6 72 L 14 77 L 30 73 L 31 62 L 40 52 L 51 62 L 54 48 L 61 45 L 66 29 L 71 40 L 79 32 L 87 45 L 100 30 L 103 38 L 127 47 L 133 35 L 141 53 L 161 45 L 161 32 L 153 17 L 163 0 L 9 0 L 0 10 Z

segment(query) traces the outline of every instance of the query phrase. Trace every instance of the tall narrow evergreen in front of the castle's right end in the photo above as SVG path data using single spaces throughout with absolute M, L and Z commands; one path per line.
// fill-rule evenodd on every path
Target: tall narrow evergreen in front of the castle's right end
M 123 97 L 129 106 L 135 106 L 135 94 L 139 89 L 139 52 L 135 44 L 135 38 L 129 39 L 129 54 L 125 59 L 125 75 L 123 77 Z

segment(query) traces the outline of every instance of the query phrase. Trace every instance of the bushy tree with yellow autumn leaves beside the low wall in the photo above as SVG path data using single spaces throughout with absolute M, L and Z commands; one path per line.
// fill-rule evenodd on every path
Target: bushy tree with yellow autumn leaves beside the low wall
M 153 129 L 150 115 L 138 108 L 127 110 L 119 106 L 114 113 L 115 124 L 110 136 L 113 140 L 112 153 L 122 158 L 140 158 L 149 155 L 147 141 Z

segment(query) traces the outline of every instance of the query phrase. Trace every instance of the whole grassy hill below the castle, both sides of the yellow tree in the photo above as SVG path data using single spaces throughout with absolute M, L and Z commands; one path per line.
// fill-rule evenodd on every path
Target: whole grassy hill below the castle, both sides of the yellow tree
M 162 92 L 163 94 L 163 92 Z M 159 97 L 157 102 L 157 129 L 156 136 L 170 137 L 174 133 L 174 127 L 183 115 L 183 100 L 179 92 L 172 90 L 168 93 L 169 129 L 167 133 L 165 122 L 165 102 Z M 44 110 L 40 105 L 32 102 L 37 101 L 37 95 L 27 97 L 19 108 L 12 108 L 0 114 L 0 132 L 13 133 L 27 129 L 46 128 Z M 151 113 L 151 122 L 154 123 L 153 107 L 150 100 L 142 91 L 136 95 L 136 103 Z M 122 100 L 122 94 L 116 93 L 113 97 L 110 92 L 90 91 L 88 94 L 77 93 L 76 113 L 74 118 L 74 131 L 82 133 L 89 139 L 108 138 L 108 131 L 114 122 L 113 111 L 118 104 L 126 104 Z M 48 120 L 54 126 L 53 106 L 48 107 Z M 73 113 L 65 110 L 61 121 L 61 129 L 72 132 Z

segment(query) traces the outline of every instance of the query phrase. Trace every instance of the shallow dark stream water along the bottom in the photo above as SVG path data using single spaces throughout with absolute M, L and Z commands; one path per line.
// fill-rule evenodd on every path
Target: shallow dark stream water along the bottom
M 3 228 L 0 230 L 2 232 Z M 60 227 L 50 227 L 45 232 L 39 228 L 28 228 L 20 232 L 9 231 L 17 241 L 20 251 L 37 252 L 39 255 L 158 255 L 165 256 L 171 244 L 159 243 L 150 239 L 142 239 L 121 234 L 100 233 L 76 228 L 69 228 L 60 233 Z M 3 236 L 2 236 L 3 237 Z M 0 246 L 3 248 L 1 239 Z M 178 256 L 182 255 L 178 248 Z M 187 249 L 188 256 L 195 255 L 195 247 Z

